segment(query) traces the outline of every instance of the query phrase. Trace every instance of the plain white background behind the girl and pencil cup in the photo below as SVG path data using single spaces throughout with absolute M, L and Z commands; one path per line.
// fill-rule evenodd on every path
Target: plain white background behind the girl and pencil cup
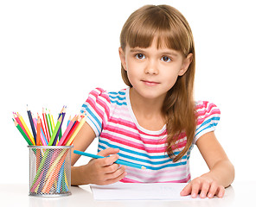
M 35 114 L 50 109 L 54 119 L 66 104 L 67 117 L 74 116 L 94 87 L 125 88 L 119 34 L 131 12 L 151 3 L 170 4 L 189 21 L 195 38 L 195 99 L 220 107 L 215 133 L 234 163 L 236 180 L 255 180 L 253 1 L 9 0 L 0 2 L 0 184 L 29 182 L 29 150 L 12 111 L 29 123 L 27 104 Z M 96 149 L 97 141 L 88 151 Z M 190 164 L 192 178 L 208 170 L 196 147 Z

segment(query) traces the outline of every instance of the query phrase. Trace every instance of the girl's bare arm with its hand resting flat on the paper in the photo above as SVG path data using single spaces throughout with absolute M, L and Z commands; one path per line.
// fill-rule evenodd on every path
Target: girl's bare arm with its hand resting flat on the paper
M 225 187 L 234 180 L 234 166 L 228 160 L 219 141 L 217 141 L 214 132 L 208 132 L 202 135 L 196 141 L 196 145 L 206 161 L 209 172 L 193 179 L 182 191 L 182 196 L 191 194 L 195 198 L 200 193 L 201 198 L 213 198 L 214 195 L 222 198 L 225 193 Z

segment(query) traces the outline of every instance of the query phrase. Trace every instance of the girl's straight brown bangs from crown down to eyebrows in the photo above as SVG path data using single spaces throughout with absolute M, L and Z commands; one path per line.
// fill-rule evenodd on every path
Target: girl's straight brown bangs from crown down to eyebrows
M 141 12 L 131 15 L 130 21 L 125 23 L 122 31 L 120 41 L 124 50 L 126 44 L 132 48 L 150 47 L 156 38 L 157 48 L 168 47 L 182 52 L 185 56 L 192 51 L 193 40 L 190 40 L 188 28 L 184 22 L 161 6 L 144 7 Z

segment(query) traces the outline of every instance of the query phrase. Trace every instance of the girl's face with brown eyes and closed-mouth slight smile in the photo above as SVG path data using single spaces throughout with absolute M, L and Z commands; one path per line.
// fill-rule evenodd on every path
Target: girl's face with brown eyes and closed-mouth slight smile
M 182 53 L 168 47 L 157 48 L 154 39 L 150 47 L 119 48 L 122 65 L 127 72 L 133 91 L 145 98 L 164 98 L 182 76 L 192 60 L 192 53 L 184 58 Z

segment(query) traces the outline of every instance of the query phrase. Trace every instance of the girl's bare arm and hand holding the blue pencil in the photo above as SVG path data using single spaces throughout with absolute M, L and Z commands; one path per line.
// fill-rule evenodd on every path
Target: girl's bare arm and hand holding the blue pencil
M 80 158 L 79 154 L 73 153 L 74 150 L 84 152 L 93 142 L 94 138 L 93 129 L 85 122 L 73 143 L 74 147 L 71 154 L 71 185 L 107 185 L 125 178 L 125 166 L 119 167 L 118 164 L 114 163 L 118 160 L 118 149 L 110 147 L 100 151 L 99 155 L 105 157 L 110 154 L 114 155 L 103 159 L 93 159 L 83 166 L 74 166 L 75 162 Z

